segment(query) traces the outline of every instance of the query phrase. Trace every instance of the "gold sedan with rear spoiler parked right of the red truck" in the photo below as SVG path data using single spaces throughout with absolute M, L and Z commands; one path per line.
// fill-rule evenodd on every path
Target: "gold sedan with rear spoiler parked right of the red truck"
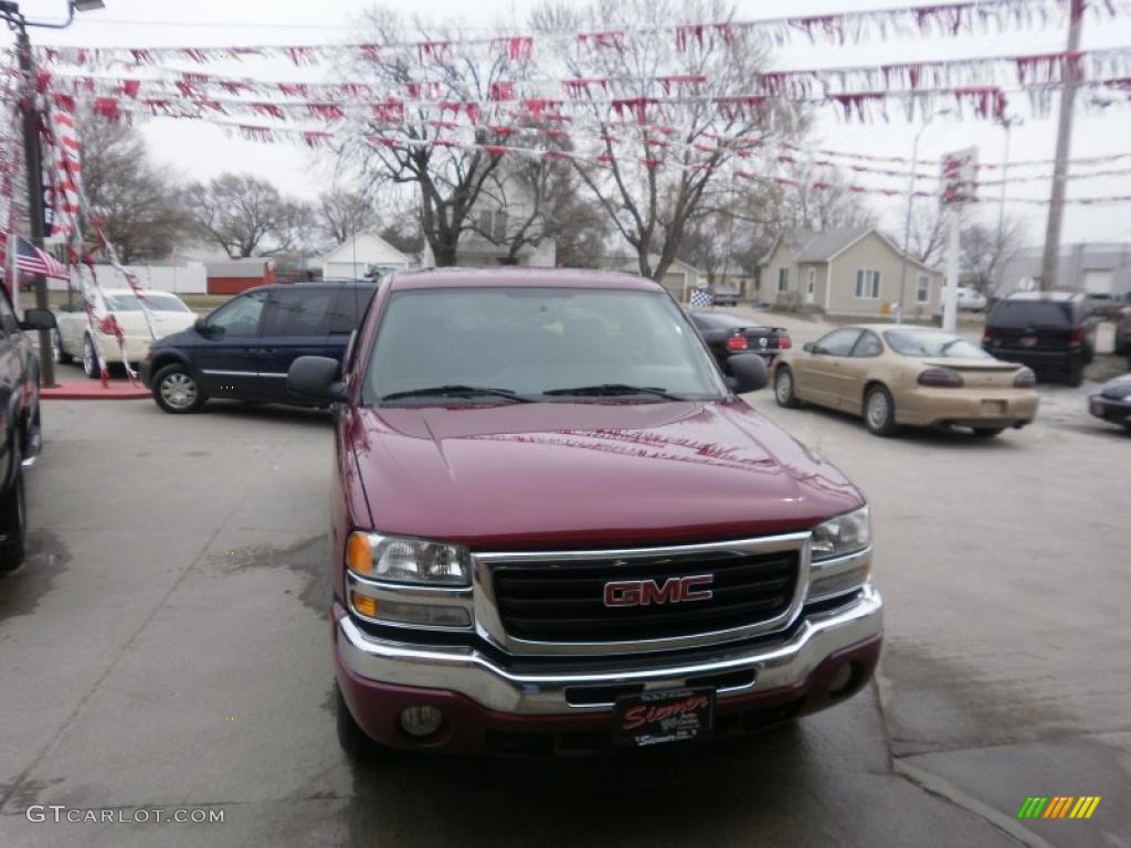
M 841 327 L 774 365 L 780 406 L 808 401 L 862 415 L 875 435 L 900 424 L 969 427 L 994 436 L 1037 414 L 1033 371 L 961 336 L 922 327 Z

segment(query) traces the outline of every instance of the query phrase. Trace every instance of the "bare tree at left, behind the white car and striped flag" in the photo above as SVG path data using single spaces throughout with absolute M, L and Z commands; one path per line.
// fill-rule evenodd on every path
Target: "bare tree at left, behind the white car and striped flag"
M 172 181 L 149 162 L 137 130 L 86 114 L 79 116 L 78 137 L 90 211 L 119 258 L 136 262 L 169 256 L 190 219 Z M 89 226 L 84 233 L 93 237 Z

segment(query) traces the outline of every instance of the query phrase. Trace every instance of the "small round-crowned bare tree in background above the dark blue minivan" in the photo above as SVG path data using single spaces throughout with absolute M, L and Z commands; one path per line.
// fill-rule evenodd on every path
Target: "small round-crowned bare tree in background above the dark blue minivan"
M 191 183 L 183 200 L 196 231 L 219 244 L 233 259 L 286 253 L 307 241 L 313 209 L 279 194 L 251 174 L 221 174 L 207 185 Z

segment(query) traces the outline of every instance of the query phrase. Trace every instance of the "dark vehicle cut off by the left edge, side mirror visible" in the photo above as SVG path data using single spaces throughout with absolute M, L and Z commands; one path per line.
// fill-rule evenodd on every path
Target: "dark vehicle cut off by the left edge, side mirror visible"
M 43 447 L 40 360 L 27 331 L 53 330 L 55 317 L 46 309 L 29 309 L 18 320 L 7 287 L 0 288 L 0 573 L 10 573 L 23 564 L 27 540 L 24 468 Z

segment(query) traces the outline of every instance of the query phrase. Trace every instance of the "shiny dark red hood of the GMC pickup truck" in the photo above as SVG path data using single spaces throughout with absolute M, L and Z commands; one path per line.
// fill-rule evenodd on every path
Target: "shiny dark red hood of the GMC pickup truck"
M 353 408 L 340 426 L 374 529 L 480 550 L 787 533 L 863 502 L 742 401 Z

